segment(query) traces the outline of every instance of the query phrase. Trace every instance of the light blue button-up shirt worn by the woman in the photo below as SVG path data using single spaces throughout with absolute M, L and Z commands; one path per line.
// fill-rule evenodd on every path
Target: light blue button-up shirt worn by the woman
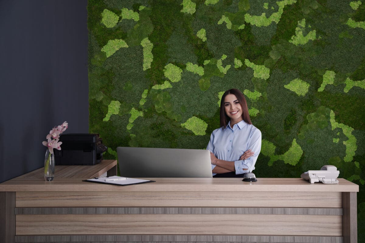
M 212 132 L 207 149 L 220 160 L 234 161 L 236 175 L 252 172 L 261 150 L 261 131 L 245 121 L 238 122 L 233 128 L 228 122 L 226 128 L 218 128 Z M 249 149 L 254 155 L 246 160 L 239 160 L 239 157 Z M 212 165 L 212 170 L 215 166 Z

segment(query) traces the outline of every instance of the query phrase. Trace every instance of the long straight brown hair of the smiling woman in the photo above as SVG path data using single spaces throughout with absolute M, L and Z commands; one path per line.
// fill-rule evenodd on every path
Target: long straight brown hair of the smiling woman
M 226 92 L 224 92 L 224 94 L 222 95 L 222 99 L 220 100 L 220 126 L 224 129 L 224 128 L 226 128 L 226 126 L 228 125 L 228 122 L 230 121 L 230 118 L 226 114 L 226 111 L 224 111 L 224 98 L 228 94 L 233 94 L 237 97 L 238 102 L 242 108 L 243 121 L 245 121 L 247 124 L 252 124 L 245 96 L 238 89 L 230 89 L 230 90 L 227 90 Z

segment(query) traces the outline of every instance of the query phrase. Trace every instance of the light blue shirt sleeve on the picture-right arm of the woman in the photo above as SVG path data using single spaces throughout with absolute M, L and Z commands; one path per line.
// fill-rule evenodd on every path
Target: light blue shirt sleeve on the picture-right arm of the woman
M 249 144 L 247 145 L 247 150 L 251 149 L 254 152 L 254 155 L 247 158 L 246 160 L 237 160 L 234 161 L 234 168 L 236 169 L 236 175 L 243 174 L 247 172 L 252 172 L 255 169 L 255 163 L 258 155 L 261 151 L 261 131 L 255 129 L 252 133 Z M 243 170 L 247 169 L 247 170 Z

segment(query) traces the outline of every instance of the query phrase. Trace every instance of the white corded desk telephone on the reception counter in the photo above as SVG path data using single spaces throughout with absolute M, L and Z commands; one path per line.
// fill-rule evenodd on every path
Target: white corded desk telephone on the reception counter
M 336 166 L 324 165 L 320 171 L 307 171 L 300 175 L 301 178 L 309 180 L 310 183 L 322 182 L 324 184 L 338 184 L 336 179 L 339 175 Z

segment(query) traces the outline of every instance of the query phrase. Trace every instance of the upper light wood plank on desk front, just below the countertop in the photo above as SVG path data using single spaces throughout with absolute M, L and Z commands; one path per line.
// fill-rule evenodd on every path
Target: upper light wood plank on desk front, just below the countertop
M 214 196 L 213 196 L 214 195 Z M 16 207 L 319 207 L 341 208 L 341 192 L 17 192 Z

